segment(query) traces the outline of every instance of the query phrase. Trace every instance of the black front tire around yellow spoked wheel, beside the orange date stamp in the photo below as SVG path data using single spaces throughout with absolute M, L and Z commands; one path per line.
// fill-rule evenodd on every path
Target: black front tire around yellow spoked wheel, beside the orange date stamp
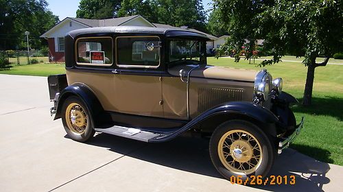
M 246 148 L 249 148 L 249 146 L 252 146 L 252 145 L 257 146 L 256 149 L 253 147 L 249 148 L 251 149 L 250 152 L 252 152 L 252 154 L 250 155 L 244 154 L 244 153 L 248 153 L 249 151 L 248 149 L 244 149 L 244 148 L 243 150 L 245 150 L 245 152 L 243 153 L 242 153 L 243 150 L 239 151 L 238 149 L 235 149 L 235 150 L 238 150 L 237 153 L 234 153 L 233 150 L 231 150 L 232 149 L 231 147 L 235 147 L 235 145 L 237 145 L 237 142 L 239 141 L 226 137 L 226 134 L 234 138 L 235 132 L 241 134 L 241 139 L 237 139 L 237 140 L 240 140 L 240 141 L 248 140 L 248 142 L 246 142 L 248 144 L 243 143 L 243 145 L 241 146 L 246 146 Z M 239 134 L 237 133 L 236 133 L 236 137 L 239 136 Z M 246 139 L 248 138 L 248 136 L 246 135 L 248 135 L 249 138 L 252 140 Z M 254 144 L 253 142 L 255 141 L 254 139 L 258 141 L 255 143 L 259 143 L 259 145 Z M 225 144 L 223 143 L 223 145 L 220 145 L 220 142 L 223 142 L 223 141 L 226 143 Z M 230 146 L 230 148 L 224 147 L 224 145 Z M 237 148 L 241 148 L 241 146 L 238 147 L 237 145 Z M 222 149 L 220 149 L 220 147 L 222 147 Z M 256 164 L 256 166 L 255 168 L 249 169 L 250 171 L 244 171 L 243 167 L 250 168 L 250 165 L 248 165 L 248 163 L 239 163 L 237 160 L 245 160 L 244 158 L 248 159 L 249 156 L 255 156 L 255 155 L 256 155 L 255 157 L 258 157 L 259 151 L 257 149 L 261 149 L 261 160 L 260 159 L 257 160 L 257 158 L 250 158 L 251 161 L 249 160 L 249 163 Z M 220 150 L 222 150 L 222 156 L 220 156 Z M 226 152 L 224 152 L 224 150 L 226 150 Z M 211 140 L 209 143 L 209 152 L 210 152 L 212 163 L 215 166 L 215 169 L 217 169 L 217 171 L 227 180 L 230 180 L 231 176 L 235 176 L 236 178 L 237 176 L 242 176 L 242 179 L 245 179 L 249 176 L 265 177 L 270 171 L 270 168 L 272 167 L 274 163 L 274 158 L 276 157 L 276 150 L 274 149 L 274 145 L 272 145 L 272 142 L 270 141 L 270 139 L 268 139 L 268 136 L 259 127 L 257 127 L 257 125 L 250 123 L 248 121 L 242 121 L 242 120 L 226 121 L 225 123 L 222 123 L 221 125 L 219 125 L 211 136 Z M 228 155 L 228 152 L 229 152 L 229 155 Z M 237 154 L 237 157 L 235 156 L 235 154 Z M 221 158 L 222 160 L 225 160 L 226 163 L 223 164 Z M 231 159 L 235 160 L 235 162 L 233 162 Z M 240 168 L 242 169 L 241 171 L 233 170 L 238 167 L 237 165 L 243 166 L 242 168 Z

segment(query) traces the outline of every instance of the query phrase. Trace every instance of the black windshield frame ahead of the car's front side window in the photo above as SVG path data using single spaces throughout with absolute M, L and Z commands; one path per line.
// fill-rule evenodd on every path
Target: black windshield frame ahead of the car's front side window
M 193 60 L 193 59 L 182 59 L 182 60 L 173 60 L 170 61 L 170 43 L 175 40 L 197 40 L 200 42 L 200 53 L 202 55 L 200 56 L 199 60 Z M 167 50 L 166 50 L 166 57 L 165 60 L 169 65 L 178 65 L 182 64 L 184 62 L 197 62 L 198 64 L 207 64 L 207 56 L 206 56 L 206 39 L 204 38 L 194 38 L 194 37 L 173 37 L 173 38 L 167 38 Z

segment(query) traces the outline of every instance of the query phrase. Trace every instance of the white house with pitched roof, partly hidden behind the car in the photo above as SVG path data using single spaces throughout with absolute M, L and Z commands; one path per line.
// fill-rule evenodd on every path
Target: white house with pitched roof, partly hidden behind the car
M 64 35 L 67 32 L 75 29 L 82 29 L 88 27 L 107 27 L 107 26 L 145 26 L 145 27 L 165 27 L 165 28 L 178 28 L 171 25 L 164 25 L 159 23 L 150 23 L 141 15 L 134 16 L 124 16 L 113 19 L 80 19 L 67 17 L 63 19 L 41 35 L 41 38 L 46 38 L 49 44 L 49 58 L 54 58 L 57 62 L 64 62 Z M 185 28 L 185 27 L 184 27 Z M 215 45 L 215 36 L 200 32 L 196 29 L 190 29 L 190 31 L 198 32 L 208 36 L 211 40 L 207 42 L 207 52 L 209 53 L 210 49 L 213 49 Z

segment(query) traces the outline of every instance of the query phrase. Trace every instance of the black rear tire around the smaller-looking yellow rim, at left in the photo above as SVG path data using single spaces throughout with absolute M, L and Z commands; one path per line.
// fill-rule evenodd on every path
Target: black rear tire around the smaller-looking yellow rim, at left
M 82 110 L 82 119 L 86 119 L 83 120 L 82 122 L 86 122 L 86 123 L 82 123 L 83 126 L 82 128 L 74 125 L 72 122 L 67 123 L 69 117 L 66 116 L 66 112 L 69 106 L 73 106 L 75 104 L 78 104 L 81 106 Z M 76 106 L 76 105 L 75 105 Z M 80 109 L 79 106 L 77 106 L 78 109 Z M 80 110 L 81 111 L 81 110 Z M 72 119 L 72 118 L 71 118 Z M 69 119 L 69 120 L 71 120 Z M 75 121 L 75 120 L 74 120 Z M 71 96 L 68 97 L 65 101 L 64 104 L 62 105 L 62 123 L 64 126 L 64 130 L 67 132 L 68 136 L 73 139 L 74 141 L 79 141 L 79 142 L 86 142 L 88 141 L 88 139 L 91 139 L 91 137 L 94 136 L 95 134 L 95 130 L 93 128 L 93 119 L 91 118 L 91 114 L 88 112 L 88 109 L 86 108 L 86 105 L 84 104 L 84 102 L 75 96 Z M 86 124 L 86 125 L 84 125 Z M 75 127 L 76 126 L 76 127 Z M 75 128 L 80 128 L 80 132 L 78 132 Z

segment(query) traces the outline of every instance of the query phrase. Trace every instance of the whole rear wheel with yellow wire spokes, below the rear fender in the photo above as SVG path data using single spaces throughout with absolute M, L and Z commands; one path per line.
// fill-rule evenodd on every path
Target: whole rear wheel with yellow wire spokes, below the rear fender
M 62 123 L 68 136 L 75 141 L 87 141 L 95 134 L 91 115 L 78 97 L 71 96 L 64 101 Z

